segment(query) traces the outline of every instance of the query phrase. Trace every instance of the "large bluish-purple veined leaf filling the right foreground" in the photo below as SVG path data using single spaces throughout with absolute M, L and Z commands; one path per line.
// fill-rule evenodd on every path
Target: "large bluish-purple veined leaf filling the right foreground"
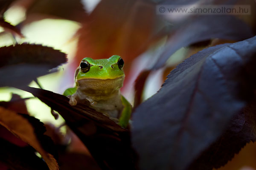
M 142 170 L 183 170 L 215 142 L 256 87 L 256 37 L 217 45 L 177 66 L 135 111 L 132 143 Z

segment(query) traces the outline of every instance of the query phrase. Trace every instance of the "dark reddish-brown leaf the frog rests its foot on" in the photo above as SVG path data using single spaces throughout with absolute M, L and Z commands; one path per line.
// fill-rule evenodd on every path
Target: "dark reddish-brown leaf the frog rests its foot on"
M 68 103 L 69 99 L 63 95 L 37 88 L 27 87 L 25 90 L 61 114 L 67 125 L 88 148 L 99 167 L 117 170 L 135 169 L 129 130 L 89 108 L 89 102 L 71 106 Z

